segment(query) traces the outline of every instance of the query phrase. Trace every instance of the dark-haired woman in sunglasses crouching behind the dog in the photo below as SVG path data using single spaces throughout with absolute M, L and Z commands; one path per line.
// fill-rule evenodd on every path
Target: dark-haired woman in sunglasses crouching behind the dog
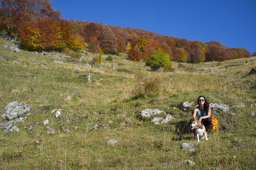
M 199 106 L 193 111 L 193 120 L 196 120 L 197 116 L 197 120 L 204 124 L 206 132 L 208 132 L 212 124 L 211 107 L 204 96 L 198 97 L 197 104 Z

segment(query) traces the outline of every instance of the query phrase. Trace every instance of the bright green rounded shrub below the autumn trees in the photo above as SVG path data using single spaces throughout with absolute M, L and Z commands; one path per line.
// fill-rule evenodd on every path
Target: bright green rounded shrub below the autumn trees
M 146 65 L 150 66 L 152 70 L 158 70 L 160 67 L 170 65 L 170 57 L 164 52 L 156 52 L 149 56 Z

